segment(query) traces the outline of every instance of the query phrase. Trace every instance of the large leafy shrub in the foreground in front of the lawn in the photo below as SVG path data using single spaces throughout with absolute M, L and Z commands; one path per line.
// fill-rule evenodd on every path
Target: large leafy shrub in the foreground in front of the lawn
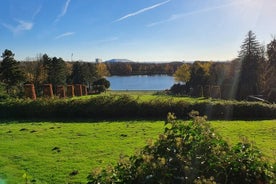
M 181 122 L 171 113 L 165 131 L 138 154 L 113 168 L 94 171 L 94 183 L 273 183 L 275 171 L 249 143 L 233 148 L 217 135 L 205 117 L 191 113 Z

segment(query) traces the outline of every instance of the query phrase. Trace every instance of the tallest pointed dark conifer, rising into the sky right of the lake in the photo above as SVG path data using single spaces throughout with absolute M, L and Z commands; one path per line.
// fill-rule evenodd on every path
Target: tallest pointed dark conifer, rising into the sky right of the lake
M 248 95 L 259 94 L 260 58 L 260 43 L 257 41 L 256 35 L 249 31 L 239 52 L 241 70 L 237 91 L 238 99 L 245 99 Z

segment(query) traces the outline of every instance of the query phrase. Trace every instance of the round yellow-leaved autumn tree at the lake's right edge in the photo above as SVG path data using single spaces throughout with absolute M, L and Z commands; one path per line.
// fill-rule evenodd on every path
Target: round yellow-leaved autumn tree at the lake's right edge
M 183 64 L 176 70 L 173 76 L 175 81 L 187 83 L 191 78 L 191 66 Z

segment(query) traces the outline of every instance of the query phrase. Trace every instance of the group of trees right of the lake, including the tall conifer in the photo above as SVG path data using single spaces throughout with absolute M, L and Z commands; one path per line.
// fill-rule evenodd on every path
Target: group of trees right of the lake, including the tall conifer
M 220 86 L 229 98 L 243 100 L 249 95 L 276 102 L 276 39 L 261 45 L 249 31 L 237 59 L 231 62 L 194 62 L 183 64 L 174 77 L 174 93 L 193 94 L 199 86 Z

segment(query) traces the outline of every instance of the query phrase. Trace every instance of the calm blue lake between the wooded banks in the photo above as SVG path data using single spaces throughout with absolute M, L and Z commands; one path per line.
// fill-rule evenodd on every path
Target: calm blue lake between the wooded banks
M 174 84 L 172 76 L 167 75 L 137 75 L 137 76 L 111 76 L 111 90 L 165 90 Z

